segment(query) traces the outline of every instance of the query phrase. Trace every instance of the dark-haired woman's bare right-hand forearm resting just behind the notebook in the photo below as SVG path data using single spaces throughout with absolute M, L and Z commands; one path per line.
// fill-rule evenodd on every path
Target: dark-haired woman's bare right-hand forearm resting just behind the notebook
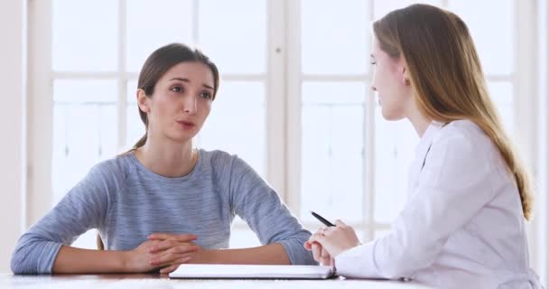
M 189 263 L 290 265 L 290 258 L 284 246 L 273 243 L 242 249 L 204 250 L 193 257 Z

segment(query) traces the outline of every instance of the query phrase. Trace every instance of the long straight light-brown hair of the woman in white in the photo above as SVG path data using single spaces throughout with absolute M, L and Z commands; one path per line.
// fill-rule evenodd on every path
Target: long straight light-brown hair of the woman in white
M 467 25 L 435 6 L 410 5 L 375 22 L 374 33 L 381 50 L 404 58 L 423 116 L 442 123 L 469 119 L 484 130 L 515 176 L 525 219 L 530 219 L 530 178 L 489 98 Z

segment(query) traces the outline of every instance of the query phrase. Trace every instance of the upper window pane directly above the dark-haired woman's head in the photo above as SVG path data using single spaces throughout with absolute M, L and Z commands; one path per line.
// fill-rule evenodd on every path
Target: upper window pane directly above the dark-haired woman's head
M 193 44 L 191 0 L 126 1 L 126 70 L 139 71 L 157 48 Z

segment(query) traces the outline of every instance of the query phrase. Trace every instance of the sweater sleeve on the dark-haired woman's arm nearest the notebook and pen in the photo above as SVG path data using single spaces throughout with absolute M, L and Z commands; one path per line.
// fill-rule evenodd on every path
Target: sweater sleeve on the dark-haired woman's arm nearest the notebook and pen
M 303 247 L 311 232 L 284 205 L 276 192 L 247 163 L 233 157 L 230 172 L 233 210 L 256 232 L 261 244 L 284 246 L 293 265 L 316 265 Z

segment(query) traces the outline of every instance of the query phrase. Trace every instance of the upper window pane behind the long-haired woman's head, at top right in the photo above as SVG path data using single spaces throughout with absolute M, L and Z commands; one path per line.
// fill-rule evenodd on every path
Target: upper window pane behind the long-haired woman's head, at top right
M 486 74 L 513 72 L 513 17 L 511 0 L 450 0 L 449 9 L 467 23 Z M 479 15 L 495 15 L 490 21 Z M 496 16 L 497 15 L 497 16 Z

